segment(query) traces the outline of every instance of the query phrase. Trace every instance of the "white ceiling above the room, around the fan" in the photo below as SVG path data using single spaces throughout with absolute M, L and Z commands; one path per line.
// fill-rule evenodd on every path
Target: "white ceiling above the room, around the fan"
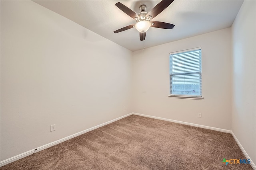
M 238 13 L 242 0 L 174 0 L 154 21 L 175 25 L 173 29 L 150 27 L 145 41 L 140 41 L 139 32 L 128 29 L 113 31 L 136 23 L 115 6 L 121 2 L 137 14 L 139 6 L 147 6 L 149 12 L 160 0 L 34 0 L 91 31 L 131 51 L 228 28 Z

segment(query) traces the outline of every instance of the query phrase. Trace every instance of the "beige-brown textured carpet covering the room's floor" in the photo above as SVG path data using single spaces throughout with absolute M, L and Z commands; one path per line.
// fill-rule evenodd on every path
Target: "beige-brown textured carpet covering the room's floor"
M 252 170 L 231 134 L 131 115 L 0 170 Z

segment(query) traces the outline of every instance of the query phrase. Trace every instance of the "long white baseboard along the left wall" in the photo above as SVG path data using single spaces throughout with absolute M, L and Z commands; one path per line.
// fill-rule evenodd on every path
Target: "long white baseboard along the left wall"
M 49 147 L 52 147 L 52 146 L 57 145 L 57 144 L 59 144 L 59 143 L 62 143 L 62 142 L 64 142 L 64 141 L 67 141 L 67 140 L 69 140 L 69 139 L 72 139 L 72 138 L 74 138 L 74 137 L 77 137 L 77 136 L 79 136 L 79 135 L 82 135 L 82 134 L 84 134 L 84 133 L 86 133 L 86 132 L 89 132 L 89 131 L 92 131 L 92 130 L 97 129 L 97 128 L 99 128 L 99 127 L 105 126 L 105 125 L 107 125 L 107 124 L 109 124 L 109 123 L 112 123 L 112 122 L 114 122 L 114 121 L 118 121 L 118 120 L 120 120 L 120 119 L 122 119 L 122 118 L 124 118 L 124 117 L 130 116 L 130 115 L 132 115 L 132 113 L 129 113 L 129 114 L 124 115 L 124 116 L 121 116 L 121 117 L 118 117 L 118 118 L 113 119 L 113 120 L 111 120 L 111 121 L 108 121 L 108 122 L 106 122 L 106 123 L 102 123 L 102 124 L 100 124 L 100 125 L 91 127 L 91 128 L 89 128 L 89 129 L 86 129 L 86 130 L 84 130 L 84 131 L 75 133 L 75 134 L 70 135 L 70 136 L 68 136 L 68 137 L 64 137 L 64 138 L 62 138 L 62 139 L 60 139 L 60 140 L 58 140 L 58 141 L 54 141 L 54 142 L 52 142 L 52 143 L 48 143 L 48 144 L 43 145 L 43 146 L 41 146 L 41 147 L 38 147 L 38 148 L 35 148 L 35 149 L 32 149 L 32 150 L 29 150 L 29 151 L 27 151 L 27 152 L 24 152 L 24 153 L 22 153 L 22 154 L 13 156 L 12 158 L 8 158 L 8 159 L 6 159 L 6 160 L 1 161 L 1 162 L 0 162 L 0 167 L 1 167 L 1 166 L 4 166 L 4 165 L 6 165 L 6 164 L 9 164 L 9 163 L 11 163 L 11 162 L 14 162 L 14 161 L 16 161 L 16 160 L 19 160 L 19 159 L 21 159 L 21 158 L 24 158 L 24 157 L 26 157 L 26 156 L 29 156 L 29 155 L 31 155 L 31 154 L 34 154 L 34 153 L 36 153 L 36 152 L 39 152 L 39 151 L 41 151 L 41 150 L 44 150 L 44 149 L 46 149 L 46 148 L 49 148 Z

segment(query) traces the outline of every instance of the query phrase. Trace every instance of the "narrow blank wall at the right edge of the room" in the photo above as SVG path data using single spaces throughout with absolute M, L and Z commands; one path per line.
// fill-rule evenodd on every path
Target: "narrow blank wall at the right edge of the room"
M 254 162 L 256 161 L 255 9 L 256 1 L 245 0 L 232 25 L 232 131 Z

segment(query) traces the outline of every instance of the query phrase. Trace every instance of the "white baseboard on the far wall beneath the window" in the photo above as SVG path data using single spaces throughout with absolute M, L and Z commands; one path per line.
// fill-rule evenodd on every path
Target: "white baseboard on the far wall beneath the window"
M 190 125 L 190 126 L 194 126 L 194 127 L 201 127 L 201 128 L 204 128 L 204 129 L 210 129 L 210 130 L 214 130 L 214 131 L 220 131 L 220 132 L 225 132 L 225 133 L 232 133 L 232 131 L 230 131 L 230 130 L 220 129 L 220 128 L 217 128 L 217 127 L 198 125 L 198 124 L 194 124 L 194 123 L 188 123 L 188 122 L 184 122 L 184 121 L 177 121 L 177 120 L 166 119 L 166 118 L 162 118 L 162 117 L 144 115 L 144 114 L 140 114 L 140 113 L 132 113 L 132 114 L 133 115 L 138 115 L 138 116 L 150 117 L 150 118 L 153 118 L 153 119 L 160 119 L 160 120 L 170 121 L 170 122 L 174 122 L 174 123 L 180 123 L 180 124 L 183 124 L 183 125 Z

